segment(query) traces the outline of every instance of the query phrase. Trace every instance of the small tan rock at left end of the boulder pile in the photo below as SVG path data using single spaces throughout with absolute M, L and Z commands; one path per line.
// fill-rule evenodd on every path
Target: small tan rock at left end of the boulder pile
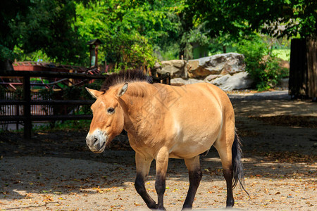
M 186 60 L 163 60 L 161 64 L 156 63 L 157 72 L 165 74 L 170 73 L 170 77 L 187 78 L 187 62 Z

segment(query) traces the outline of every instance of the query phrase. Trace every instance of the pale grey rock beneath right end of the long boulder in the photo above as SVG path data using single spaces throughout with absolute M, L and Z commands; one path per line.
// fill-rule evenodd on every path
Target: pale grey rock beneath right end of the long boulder
M 235 75 L 223 75 L 211 81 L 211 84 L 216 85 L 223 91 L 232 91 L 234 89 L 248 89 L 252 87 L 253 80 L 247 72 L 239 72 Z

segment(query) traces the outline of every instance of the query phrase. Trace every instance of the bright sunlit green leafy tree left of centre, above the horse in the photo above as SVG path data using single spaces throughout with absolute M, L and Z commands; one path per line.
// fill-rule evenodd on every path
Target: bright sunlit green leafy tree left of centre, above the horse
M 166 44 L 175 32 L 173 1 L 99 1 L 77 4 L 78 32 L 84 39 L 101 39 L 99 52 L 118 68 L 154 65 L 153 46 Z M 167 42 L 170 43 L 170 42 Z

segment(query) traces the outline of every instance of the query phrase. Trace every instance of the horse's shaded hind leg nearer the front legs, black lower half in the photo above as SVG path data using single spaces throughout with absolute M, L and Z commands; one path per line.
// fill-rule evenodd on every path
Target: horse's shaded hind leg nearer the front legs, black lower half
M 189 189 L 182 209 L 191 209 L 202 177 L 199 155 L 194 158 L 185 159 L 185 165 L 189 172 Z

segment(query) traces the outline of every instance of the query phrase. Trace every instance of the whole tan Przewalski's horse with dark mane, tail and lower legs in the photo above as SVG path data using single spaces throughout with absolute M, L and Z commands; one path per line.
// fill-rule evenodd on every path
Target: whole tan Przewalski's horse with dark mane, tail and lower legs
M 165 210 L 168 158 L 181 158 L 189 171 L 189 190 L 183 209 L 191 208 L 199 182 L 199 155 L 214 146 L 221 158 L 227 182 L 227 207 L 235 203 L 232 188 L 242 184 L 240 140 L 235 132 L 235 113 L 228 96 L 212 84 L 172 87 L 150 84 L 138 71 L 111 75 L 100 91 L 87 89 L 96 102 L 87 145 L 94 153 L 125 129 L 135 150 L 135 188 L 150 209 Z M 156 160 L 156 203 L 144 181 L 152 160 Z M 243 187 L 243 186 L 242 186 Z

